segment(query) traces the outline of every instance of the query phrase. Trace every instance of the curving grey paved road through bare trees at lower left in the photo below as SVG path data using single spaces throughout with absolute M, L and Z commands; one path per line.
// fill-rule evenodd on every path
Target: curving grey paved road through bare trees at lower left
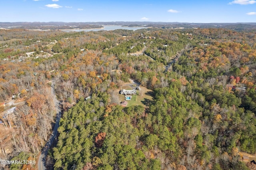
M 56 123 L 55 123 L 54 129 L 52 131 L 52 134 L 51 134 L 49 140 L 46 142 L 46 144 L 45 144 L 44 148 L 42 149 L 42 152 L 39 156 L 38 170 L 46 170 L 46 167 L 45 167 L 46 156 L 47 156 L 50 146 L 52 145 L 52 142 L 54 141 L 54 138 L 56 138 L 56 134 L 58 132 L 57 129 L 58 129 L 59 123 L 60 123 L 60 117 L 61 117 L 60 101 L 58 101 L 56 98 L 54 86 L 55 86 L 55 81 L 52 80 L 51 93 L 52 93 L 52 100 L 54 102 L 55 109 L 56 109 Z

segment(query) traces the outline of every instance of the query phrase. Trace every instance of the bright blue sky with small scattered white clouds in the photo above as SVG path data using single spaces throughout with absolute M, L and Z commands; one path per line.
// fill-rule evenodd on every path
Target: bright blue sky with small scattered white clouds
M 256 22 L 256 0 L 0 0 L 0 22 Z

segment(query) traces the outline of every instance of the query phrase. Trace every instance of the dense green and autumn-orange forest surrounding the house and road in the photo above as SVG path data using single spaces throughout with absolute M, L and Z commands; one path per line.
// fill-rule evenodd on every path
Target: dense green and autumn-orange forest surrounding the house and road
M 255 42 L 255 30 L 224 28 L 0 30 L 0 101 L 15 98 L 1 105 L 0 159 L 37 160 L 54 80 L 63 113 L 49 169 L 256 169 L 243 161 L 256 160 Z M 148 93 L 122 107 L 130 81 Z

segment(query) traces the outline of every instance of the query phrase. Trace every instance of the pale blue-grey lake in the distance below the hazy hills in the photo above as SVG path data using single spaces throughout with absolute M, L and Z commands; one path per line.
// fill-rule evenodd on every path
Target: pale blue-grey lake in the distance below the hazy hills
M 79 31 L 85 31 L 85 32 L 88 32 L 88 31 L 100 31 L 100 30 L 105 30 L 105 31 L 111 31 L 111 30 L 118 30 L 118 29 L 123 29 L 123 30 L 139 30 L 139 29 L 145 29 L 145 28 L 148 28 L 148 27 L 122 27 L 122 26 L 103 26 L 104 28 L 98 28 L 98 29 L 76 29 L 76 30 L 63 30 L 65 32 L 70 32 L 70 31 L 76 31 L 76 32 L 79 32 Z

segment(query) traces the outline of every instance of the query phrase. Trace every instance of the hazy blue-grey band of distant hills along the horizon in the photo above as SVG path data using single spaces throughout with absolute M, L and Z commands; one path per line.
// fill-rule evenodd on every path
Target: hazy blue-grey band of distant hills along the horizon
M 233 30 L 256 29 L 256 23 L 181 23 L 181 22 L 0 22 L 0 28 L 12 29 L 90 29 L 103 25 L 146 26 L 157 28 L 228 28 Z

